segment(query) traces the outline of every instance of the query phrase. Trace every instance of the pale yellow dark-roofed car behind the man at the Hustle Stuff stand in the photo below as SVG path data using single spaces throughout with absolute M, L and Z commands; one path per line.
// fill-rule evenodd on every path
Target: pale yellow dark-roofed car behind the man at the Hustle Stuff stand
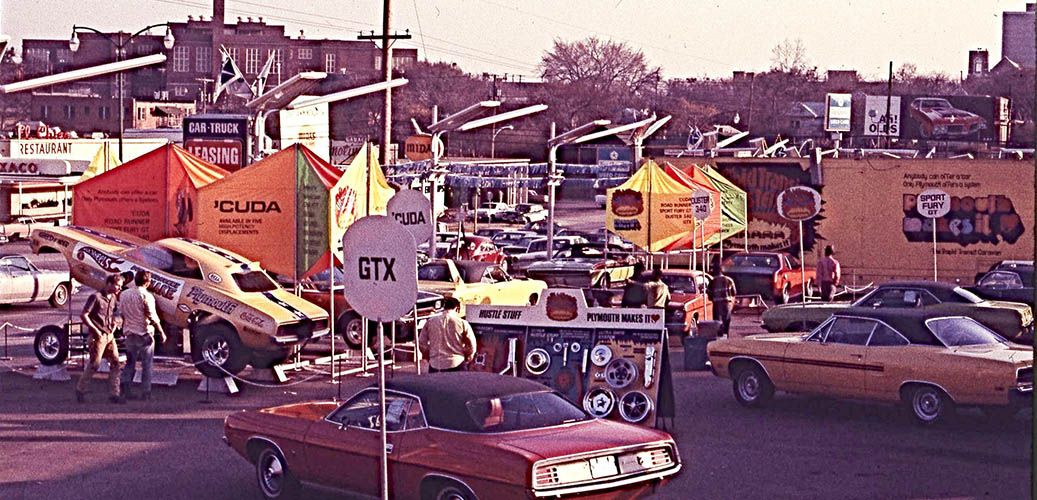
M 461 304 L 524 306 L 543 295 L 548 284 L 514 279 L 498 265 L 441 258 L 418 267 L 418 289 L 453 297 Z

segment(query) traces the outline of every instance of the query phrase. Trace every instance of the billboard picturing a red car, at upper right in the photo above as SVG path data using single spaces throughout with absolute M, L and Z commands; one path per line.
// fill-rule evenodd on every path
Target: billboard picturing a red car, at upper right
M 904 140 L 992 141 L 999 110 L 988 95 L 903 95 L 900 99 Z M 884 108 L 885 109 L 885 108 Z

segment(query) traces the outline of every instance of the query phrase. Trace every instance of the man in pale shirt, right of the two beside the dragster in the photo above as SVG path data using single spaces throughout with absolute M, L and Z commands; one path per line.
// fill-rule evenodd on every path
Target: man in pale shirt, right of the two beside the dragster
M 166 341 L 162 322 L 155 308 L 155 296 L 147 290 L 151 284 L 151 273 L 138 271 L 134 278 L 136 286 L 119 295 L 119 312 L 122 314 L 122 333 L 125 335 L 127 365 L 122 369 L 122 394 L 131 398 L 130 384 L 140 361 L 141 399 L 151 398 L 151 364 L 155 361 L 155 334 L 159 342 Z

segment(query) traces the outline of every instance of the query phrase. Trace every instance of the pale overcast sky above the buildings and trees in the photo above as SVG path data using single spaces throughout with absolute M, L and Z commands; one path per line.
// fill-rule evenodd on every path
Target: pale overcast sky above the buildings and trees
M 211 16 L 211 0 L 0 0 L 0 32 L 67 38 L 74 24 L 137 31 L 188 15 Z M 226 0 L 227 21 L 262 16 L 297 36 L 355 39 L 382 29 L 379 0 Z M 666 78 L 729 77 L 766 71 L 783 39 L 802 38 L 811 65 L 885 78 L 889 61 L 958 76 L 969 51 L 1001 57 L 1002 12 L 1022 0 L 394 0 L 393 27 L 430 61 L 469 73 L 536 75 L 555 38 L 595 35 L 644 52 Z

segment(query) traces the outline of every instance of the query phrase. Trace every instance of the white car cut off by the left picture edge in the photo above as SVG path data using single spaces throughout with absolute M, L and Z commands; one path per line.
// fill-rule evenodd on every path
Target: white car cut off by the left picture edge
M 0 256 L 0 304 L 68 303 L 74 284 L 67 271 L 39 269 L 23 255 Z

